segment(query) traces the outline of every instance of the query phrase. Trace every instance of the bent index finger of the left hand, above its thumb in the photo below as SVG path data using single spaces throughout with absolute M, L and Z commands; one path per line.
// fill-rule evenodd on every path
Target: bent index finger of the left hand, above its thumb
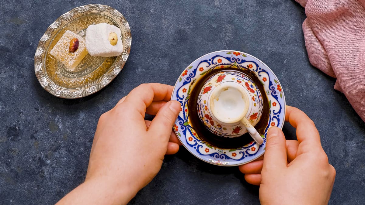
M 142 84 L 134 88 L 124 102 L 131 102 L 135 109 L 145 116 L 147 107 L 153 101 L 169 101 L 173 86 L 158 83 Z

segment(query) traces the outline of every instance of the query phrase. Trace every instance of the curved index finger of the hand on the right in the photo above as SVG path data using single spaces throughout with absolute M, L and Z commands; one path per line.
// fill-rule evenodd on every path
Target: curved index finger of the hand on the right
M 299 141 L 298 153 L 321 149 L 320 137 L 313 121 L 298 108 L 287 106 L 285 120 L 296 128 L 296 135 Z

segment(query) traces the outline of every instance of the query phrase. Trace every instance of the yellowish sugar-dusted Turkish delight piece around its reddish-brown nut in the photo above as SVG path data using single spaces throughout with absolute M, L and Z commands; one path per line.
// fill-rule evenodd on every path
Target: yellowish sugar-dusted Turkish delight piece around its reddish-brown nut
M 69 52 L 70 41 L 78 39 L 78 49 L 74 53 Z M 88 54 L 85 40 L 72 31 L 66 31 L 50 51 L 58 61 L 63 63 L 69 70 L 74 71 L 78 63 Z

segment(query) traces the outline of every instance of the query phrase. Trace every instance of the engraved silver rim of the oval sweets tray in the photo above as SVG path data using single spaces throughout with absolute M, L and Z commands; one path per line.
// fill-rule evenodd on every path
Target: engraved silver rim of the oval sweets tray
M 101 76 L 99 79 L 95 80 L 89 85 L 83 85 L 79 88 L 65 88 L 55 84 L 45 73 L 45 56 L 47 54 L 47 50 L 49 50 L 49 44 L 51 40 L 53 40 L 54 35 L 59 32 L 59 30 L 71 20 L 78 18 L 82 15 L 87 15 L 88 13 L 99 13 L 104 16 L 108 16 L 114 22 L 118 24 L 118 27 L 123 27 L 125 32 L 127 33 L 127 38 L 124 38 L 123 41 L 126 41 L 126 48 L 123 48 L 123 53 L 118 56 L 112 66 Z M 47 90 L 47 92 L 53 94 L 56 97 L 60 98 L 81 98 L 97 91 L 103 89 L 106 85 L 108 85 L 114 78 L 120 73 L 123 69 L 124 64 L 126 63 L 128 56 L 130 54 L 132 43 L 132 36 L 129 24 L 118 10 L 112 8 L 108 5 L 102 4 L 88 4 L 80 7 L 76 7 L 71 9 L 69 12 L 66 12 L 59 16 L 45 31 L 42 38 L 39 40 L 37 50 L 34 55 L 34 72 L 37 77 L 39 84 L 41 84 L 42 88 Z

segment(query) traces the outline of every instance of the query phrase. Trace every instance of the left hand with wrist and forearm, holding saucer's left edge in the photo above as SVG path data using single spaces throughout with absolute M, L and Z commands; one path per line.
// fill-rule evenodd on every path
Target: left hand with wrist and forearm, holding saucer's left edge
M 142 84 L 101 115 L 85 182 L 60 204 L 126 204 L 155 177 L 164 155 L 179 149 L 172 127 L 181 107 L 169 101 L 172 90 Z M 146 121 L 145 113 L 156 116 Z

